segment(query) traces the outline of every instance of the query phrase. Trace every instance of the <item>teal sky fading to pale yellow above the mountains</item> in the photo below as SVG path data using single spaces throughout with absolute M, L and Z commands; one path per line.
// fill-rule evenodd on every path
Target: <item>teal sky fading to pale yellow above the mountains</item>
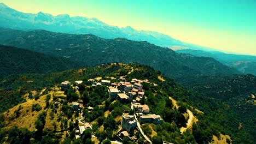
M 256 55 L 255 0 L 0 0 L 24 13 L 96 17 L 233 53 Z

